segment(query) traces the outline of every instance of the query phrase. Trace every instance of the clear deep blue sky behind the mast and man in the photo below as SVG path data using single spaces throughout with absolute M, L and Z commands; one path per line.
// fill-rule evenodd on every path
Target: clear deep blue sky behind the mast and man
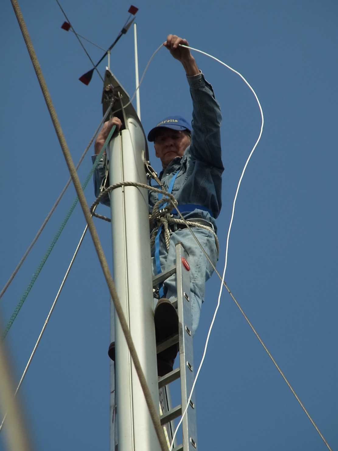
M 102 117 L 102 83 L 53 1 L 21 1 L 42 72 L 73 160 Z M 114 41 L 129 4 L 62 3 L 74 28 L 102 47 Z M 258 0 L 136 4 L 142 73 L 168 33 L 211 53 L 247 78 L 265 128 L 238 195 L 226 281 L 332 449 L 337 433 L 337 13 L 336 2 Z M 1 4 L 1 270 L 5 285 L 68 179 L 26 46 L 10 2 Z M 85 44 L 94 60 L 101 51 Z M 236 185 L 260 129 L 256 101 L 242 80 L 194 55 L 223 114 L 223 208 L 220 259 Z M 134 91 L 133 34 L 112 52 L 111 69 Z M 100 66 L 104 73 L 104 64 Z M 141 86 L 146 131 L 170 114 L 189 120 L 192 105 L 180 64 L 162 49 Z M 92 149 L 91 149 L 92 150 Z M 91 168 L 91 150 L 79 176 Z M 159 169 L 150 146 L 151 162 Z M 91 184 L 88 203 L 94 200 Z M 71 187 L 39 242 L 0 300 L 6 323 L 73 202 Z M 101 212 L 108 212 L 100 207 Z M 16 380 L 25 367 L 85 226 L 78 206 L 10 330 L 6 344 Z M 110 227 L 96 221 L 111 264 Z M 207 284 L 194 341 L 201 358 L 219 290 Z M 20 392 L 37 450 L 107 450 L 109 446 L 109 295 L 88 235 Z M 200 450 L 324 450 L 238 308 L 224 291 L 196 385 Z M 3 434 L 0 449 L 5 450 Z

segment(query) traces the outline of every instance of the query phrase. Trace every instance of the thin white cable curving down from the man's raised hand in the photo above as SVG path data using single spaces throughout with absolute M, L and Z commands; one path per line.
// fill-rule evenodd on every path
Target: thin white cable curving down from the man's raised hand
M 255 96 L 255 98 L 256 98 L 256 101 L 257 101 L 258 106 L 259 106 L 259 109 L 260 109 L 260 115 L 261 115 L 261 118 L 262 118 L 262 124 L 261 124 L 261 127 L 260 127 L 260 134 L 259 134 L 259 136 L 258 136 L 258 138 L 257 138 L 257 141 L 256 141 L 254 147 L 252 148 L 252 150 L 251 150 L 251 152 L 250 152 L 250 154 L 249 154 L 249 156 L 248 156 L 248 158 L 247 158 L 247 161 L 246 161 L 246 163 L 245 163 L 245 165 L 244 165 L 244 167 L 243 167 L 243 170 L 242 170 L 241 177 L 239 178 L 239 181 L 238 181 L 238 185 L 237 185 L 237 189 L 236 189 L 236 194 L 235 194 L 235 197 L 234 197 L 234 199 L 233 199 L 233 211 L 232 211 L 231 220 L 230 220 L 230 225 L 229 225 L 229 229 L 228 229 L 227 244 L 226 244 L 226 248 L 225 248 L 224 270 L 223 270 L 223 277 L 222 277 L 221 286 L 220 286 L 220 289 L 219 289 L 219 296 L 218 296 L 217 306 L 216 306 L 216 308 L 215 308 L 215 313 L 214 313 L 214 316 L 213 316 L 213 318 L 212 318 L 212 321 L 211 321 L 211 324 L 210 324 L 210 327 L 209 327 L 208 335 L 207 335 L 207 337 L 206 337 L 206 344 L 205 344 L 205 346 L 204 346 L 204 352 L 203 352 L 203 355 L 202 355 L 201 363 L 200 363 L 200 366 L 198 367 L 198 370 L 197 370 L 197 373 L 196 373 L 195 380 L 194 380 L 194 382 L 193 382 L 193 384 L 192 384 L 192 389 L 191 389 L 191 391 L 190 391 L 190 395 L 189 395 L 189 398 L 188 398 L 188 400 L 187 400 L 187 406 L 186 406 L 186 408 L 185 408 L 185 410 L 184 410 L 184 412 L 183 412 L 183 414 L 182 414 L 182 417 L 181 417 L 181 419 L 179 420 L 179 423 L 178 423 L 178 425 L 177 425 L 177 427 L 176 427 L 176 429 L 175 429 L 174 436 L 173 436 L 173 439 L 172 439 L 172 442 L 171 442 L 171 446 L 170 446 L 170 451 L 172 451 L 172 449 L 173 449 L 174 440 L 175 440 L 175 437 L 176 437 L 178 428 L 180 427 L 180 425 L 181 425 L 181 423 L 182 423 L 182 421 L 183 421 L 184 415 L 187 413 L 187 409 L 188 409 L 188 406 L 189 406 L 189 403 L 190 403 L 190 400 L 191 400 L 191 397 L 192 397 L 192 392 L 194 391 L 194 388 L 195 388 L 195 385 L 196 385 L 196 381 L 197 381 L 197 377 L 198 377 L 198 375 L 199 375 L 199 373 L 200 373 L 200 371 L 201 371 L 201 368 L 202 368 L 202 365 L 203 365 L 203 362 L 204 362 L 204 358 L 205 358 L 205 356 L 206 356 L 206 350 L 207 350 L 207 347 L 208 347 L 208 342 L 209 342 L 209 338 L 210 338 L 210 333 L 211 333 L 212 327 L 213 327 L 214 322 L 215 322 L 215 318 L 216 318 L 216 314 L 217 314 L 217 311 L 218 311 L 218 308 L 219 308 L 220 299 L 221 299 L 222 290 L 223 290 L 223 283 L 224 283 L 224 278 L 225 278 L 225 271 L 226 271 L 226 269 L 227 269 L 227 263 L 228 263 L 228 245 L 229 245 L 229 236 L 230 236 L 231 226 L 232 226 L 232 224 L 233 224 L 233 215 L 234 215 L 234 212 L 235 212 L 235 205 L 236 205 L 236 199 L 237 199 L 239 187 L 240 187 L 240 185 L 241 185 L 241 183 L 242 183 L 242 178 L 243 178 L 243 175 L 244 175 L 245 170 L 247 169 L 247 165 L 248 165 L 248 163 L 249 163 L 249 161 L 250 161 L 250 158 L 251 158 L 251 156 L 252 156 L 254 150 L 256 149 L 257 144 L 259 143 L 260 137 L 262 136 L 263 125 L 264 125 L 264 116 L 263 116 L 263 110 L 262 110 L 262 107 L 260 106 L 260 101 L 258 100 L 258 97 L 256 96 L 256 92 L 253 90 L 253 88 L 250 86 L 250 84 L 247 82 L 247 80 L 242 76 L 242 74 L 240 74 L 237 70 L 233 69 L 232 67 L 228 66 L 228 64 L 225 64 L 223 61 L 218 60 L 217 58 L 215 58 L 215 56 L 209 55 L 208 53 L 203 52 L 203 51 L 201 51 L 201 50 L 194 49 L 193 47 L 183 46 L 182 44 L 180 44 L 180 46 L 181 46 L 181 47 L 185 47 L 185 48 L 190 49 L 190 50 L 195 50 L 196 52 L 199 52 L 199 53 L 202 53 L 203 55 L 209 56 L 209 57 L 212 58 L 213 60 L 218 61 L 220 64 L 223 64 L 225 67 L 227 67 L 228 69 L 232 70 L 235 74 L 239 75 L 239 76 L 242 78 L 242 80 L 247 84 L 247 86 L 251 89 L 251 91 L 253 92 L 253 94 L 254 94 L 254 96 Z

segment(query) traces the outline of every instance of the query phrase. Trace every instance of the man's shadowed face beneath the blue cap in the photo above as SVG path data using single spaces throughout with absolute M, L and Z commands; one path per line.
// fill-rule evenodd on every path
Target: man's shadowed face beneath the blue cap
M 190 144 L 190 137 L 180 130 L 160 129 L 154 140 L 155 154 L 165 169 L 176 156 L 183 156 Z

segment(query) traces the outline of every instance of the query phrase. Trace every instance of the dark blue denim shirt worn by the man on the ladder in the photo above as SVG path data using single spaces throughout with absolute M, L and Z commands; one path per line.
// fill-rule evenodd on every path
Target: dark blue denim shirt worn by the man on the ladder
M 168 189 L 170 179 L 178 171 L 172 194 L 178 201 L 178 209 L 183 212 L 184 204 L 196 204 L 197 208 L 183 216 L 188 220 L 202 218 L 213 224 L 219 215 L 222 201 L 222 173 L 220 124 L 222 120 L 214 91 L 202 73 L 187 77 L 192 97 L 192 140 L 182 157 L 177 156 L 164 171 L 160 180 Z M 95 156 L 92 156 L 94 162 Z M 102 158 L 94 173 L 95 195 L 105 175 L 105 158 Z M 149 193 L 149 211 L 157 201 L 157 193 Z M 102 200 L 110 205 L 108 195 Z M 198 208 L 206 207 L 212 214 Z M 182 206 L 182 207 L 181 207 Z M 175 215 L 177 217 L 177 215 Z

